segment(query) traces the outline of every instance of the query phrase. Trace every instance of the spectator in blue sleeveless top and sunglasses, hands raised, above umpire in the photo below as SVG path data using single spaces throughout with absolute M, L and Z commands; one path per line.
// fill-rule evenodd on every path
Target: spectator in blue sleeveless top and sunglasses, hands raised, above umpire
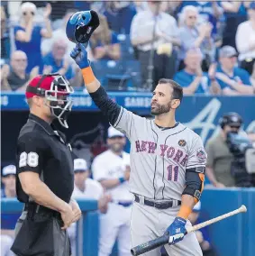
M 27 72 L 34 67 L 39 67 L 42 72 L 41 38 L 50 38 L 52 35 L 50 26 L 51 6 L 48 4 L 44 12 L 45 28 L 34 23 L 36 6 L 26 2 L 21 5 L 22 16 L 19 25 L 14 27 L 15 44 L 17 50 L 23 50 L 28 58 Z

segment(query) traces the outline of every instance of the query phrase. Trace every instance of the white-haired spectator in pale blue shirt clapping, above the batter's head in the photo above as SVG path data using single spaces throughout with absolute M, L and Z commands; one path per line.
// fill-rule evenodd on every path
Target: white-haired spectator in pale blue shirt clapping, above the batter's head
M 202 69 L 208 71 L 215 55 L 214 40 L 211 37 L 213 25 L 211 23 L 203 23 L 197 27 L 198 10 L 192 5 L 187 5 L 183 8 L 181 19 L 183 19 L 184 24 L 179 30 L 181 40 L 181 48 L 178 54 L 178 59 L 180 59 L 179 70 L 184 69 L 186 51 L 189 48 L 196 47 L 202 50 Z

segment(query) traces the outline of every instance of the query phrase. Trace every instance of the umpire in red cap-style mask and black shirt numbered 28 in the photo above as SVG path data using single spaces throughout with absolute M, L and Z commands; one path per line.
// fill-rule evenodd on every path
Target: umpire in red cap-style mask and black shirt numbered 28
M 33 78 L 26 89 L 30 115 L 16 151 L 17 197 L 25 204 L 11 248 L 19 256 L 71 255 L 67 228 L 81 215 L 77 202 L 70 199 L 72 153 L 65 136 L 50 123 L 58 119 L 68 128 L 72 92 L 59 74 Z

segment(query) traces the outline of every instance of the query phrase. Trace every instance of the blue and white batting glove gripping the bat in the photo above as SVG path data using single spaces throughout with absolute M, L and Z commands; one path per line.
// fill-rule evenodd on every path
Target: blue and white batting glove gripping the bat
M 175 244 L 183 240 L 187 230 L 185 228 L 187 221 L 181 217 L 176 217 L 174 222 L 168 226 L 165 234 L 169 235 L 169 244 Z

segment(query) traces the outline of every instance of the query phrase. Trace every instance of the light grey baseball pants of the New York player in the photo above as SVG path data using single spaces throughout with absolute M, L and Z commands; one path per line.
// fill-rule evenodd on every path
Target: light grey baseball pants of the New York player
M 153 240 L 165 233 L 168 226 L 178 215 L 179 206 L 159 210 L 134 202 L 131 218 L 132 247 Z M 191 226 L 187 221 L 186 227 Z M 169 256 L 203 256 L 195 233 L 188 233 L 181 242 L 165 245 Z M 160 248 L 148 251 L 144 256 L 159 256 Z

